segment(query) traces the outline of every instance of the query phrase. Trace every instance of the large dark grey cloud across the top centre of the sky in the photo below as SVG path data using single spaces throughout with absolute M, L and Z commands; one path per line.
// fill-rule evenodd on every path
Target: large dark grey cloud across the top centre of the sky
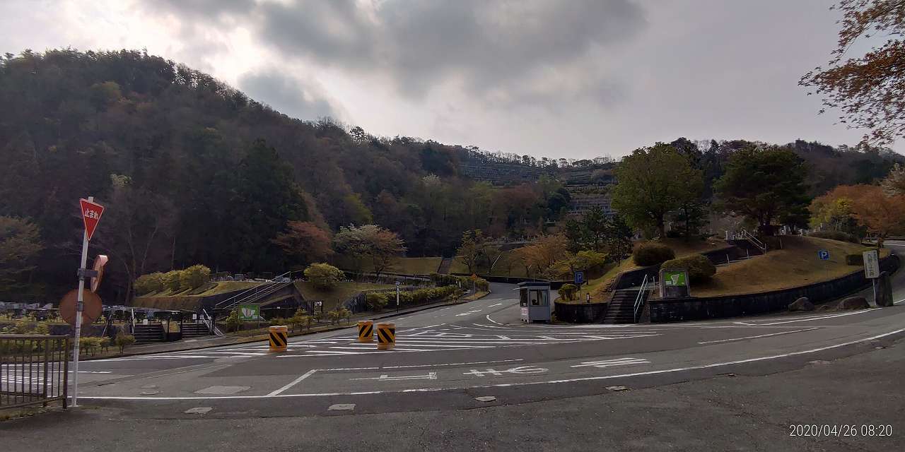
M 643 8 L 631 0 L 233 0 L 157 7 L 194 21 L 245 24 L 287 58 L 386 75 L 406 97 L 455 83 L 499 105 L 568 99 L 574 89 L 566 83 L 592 91 L 586 97 L 592 102 L 621 99 L 620 83 L 601 68 L 576 71 L 569 80 L 550 73 L 631 39 L 646 25 Z

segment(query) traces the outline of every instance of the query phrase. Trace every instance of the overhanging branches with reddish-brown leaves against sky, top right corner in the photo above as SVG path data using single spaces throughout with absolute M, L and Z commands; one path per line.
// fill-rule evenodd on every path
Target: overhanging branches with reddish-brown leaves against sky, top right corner
M 868 129 L 864 143 L 890 145 L 905 137 L 905 2 L 840 0 L 834 8 L 843 19 L 831 60 L 798 83 L 823 97 L 825 108 L 841 109 L 841 123 Z M 871 39 L 868 52 L 845 58 L 856 42 Z

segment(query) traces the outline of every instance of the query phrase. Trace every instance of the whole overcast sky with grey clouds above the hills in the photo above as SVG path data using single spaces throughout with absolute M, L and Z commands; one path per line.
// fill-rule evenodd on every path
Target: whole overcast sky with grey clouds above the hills
M 824 0 L 0 2 L 0 52 L 147 48 L 290 116 L 556 157 L 691 139 L 855 144 L 799 77 Z M 901 144 L 897 150 L 901 152 Z

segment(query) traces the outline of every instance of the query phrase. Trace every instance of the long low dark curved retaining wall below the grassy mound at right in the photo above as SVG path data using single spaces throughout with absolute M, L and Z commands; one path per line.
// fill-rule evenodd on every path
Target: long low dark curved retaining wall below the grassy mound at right
M 881 271 L 894 272 L 899 268 L 900 259 L 890 256 L 881 259 Z M 859 269 L 842 278 L 814 283 L 803 287 L 793 287 L 759 294 L 727 297 L 688 297 L 649 301 L 651 322 L 679 322 L 709 318 L 756 315 L 785 310 L 799 297 L 808 297 L 812 303 L 823 303 L 851 294 L 870 286 Z

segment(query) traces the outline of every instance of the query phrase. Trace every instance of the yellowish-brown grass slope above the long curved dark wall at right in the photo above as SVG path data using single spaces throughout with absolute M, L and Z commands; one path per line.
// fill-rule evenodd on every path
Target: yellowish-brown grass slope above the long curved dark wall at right
M 691 285 L 691 295 L 716 297 L 766 292 L 839 278 L 862 269 L 845 265 L 845 255 L 866 250 L 855 243 L 813 237 L 784 236 L 782 243 L 782 250 L 718 267 L 710 282 Z M 818 250 L 830 251 L 830 259 L 817 259 Z M 881 256 L 889 252 L 881 250 Z

